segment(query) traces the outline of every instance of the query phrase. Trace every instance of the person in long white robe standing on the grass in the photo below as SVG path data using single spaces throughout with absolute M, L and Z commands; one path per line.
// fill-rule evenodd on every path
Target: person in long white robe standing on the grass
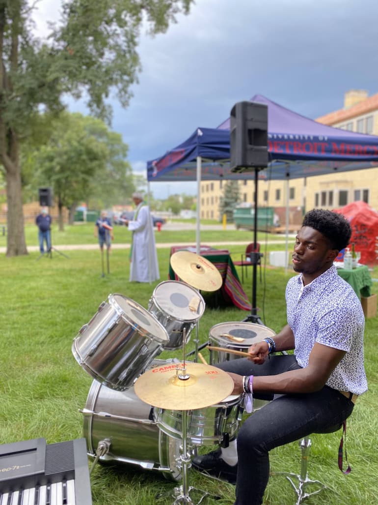
M 130 282 L 153 282 L 160 278 L 155 236 L 150 209 L 142 193 L 133 193 L 136 211 L 132 221 L 124 223 L 133 232 L 130 251 Z

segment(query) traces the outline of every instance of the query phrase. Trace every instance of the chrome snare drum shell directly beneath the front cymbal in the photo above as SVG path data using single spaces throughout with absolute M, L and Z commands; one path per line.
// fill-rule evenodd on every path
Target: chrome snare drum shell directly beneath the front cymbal
M 224 400 L 203 409 L 187 411 L 186 436 L 193 445 L 228 445 L 236 436 L 242 417 L 242 395 L 230 395 Z M 154 408 L 154 418 L 166 435 L 182 438 L 181 411 Z

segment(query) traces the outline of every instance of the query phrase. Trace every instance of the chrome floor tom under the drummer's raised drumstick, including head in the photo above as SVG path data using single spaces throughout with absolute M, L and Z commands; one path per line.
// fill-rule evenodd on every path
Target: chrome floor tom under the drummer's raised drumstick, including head
M 229 322 L 216 324 L 210 328 L 209 333 L 210 365 L 239 358 L 239 356 L 227 351 L 213 350 L 211 349 L 211 345 L 247 352 L 252 344 L 260 342 L 267 337 L 272 338 L 274 335 L 275 332 L 268 328 L 268 326 L 256 323 Z

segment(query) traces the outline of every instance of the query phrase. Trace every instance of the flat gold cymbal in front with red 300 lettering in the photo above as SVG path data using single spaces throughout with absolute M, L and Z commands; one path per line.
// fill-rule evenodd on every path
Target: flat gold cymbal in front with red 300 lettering
M 135 381 L 135 393 L 153 407 L 175 411 L 216 405 L 232 393 L 233 380 L 223 370 L 192 362 L 185 367 L 168 363 L 148 370 Z

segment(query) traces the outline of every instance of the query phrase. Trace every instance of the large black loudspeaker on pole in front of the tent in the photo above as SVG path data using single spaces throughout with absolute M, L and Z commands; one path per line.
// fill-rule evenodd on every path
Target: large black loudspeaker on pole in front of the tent
M 231 172 L 251 172 L 268 166 L 268 106 L 238 102 L 230 115 Z

